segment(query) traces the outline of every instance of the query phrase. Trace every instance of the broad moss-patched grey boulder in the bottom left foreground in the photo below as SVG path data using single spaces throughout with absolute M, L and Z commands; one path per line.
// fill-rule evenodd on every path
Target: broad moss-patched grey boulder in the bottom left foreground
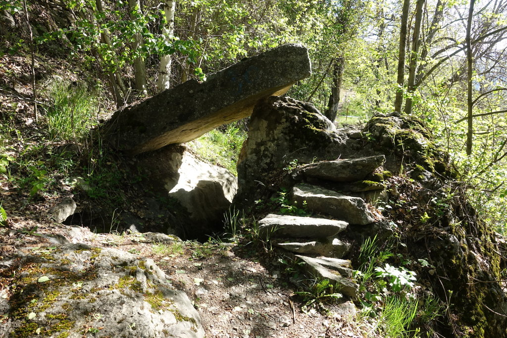
M 1 261 L 0 336 L 203 337 L 187 295 L 151 259 L 67 244 Z M 14 276 L 14 277 L 13 277 Z M 4 297 L 5 295 L 5 297 Z

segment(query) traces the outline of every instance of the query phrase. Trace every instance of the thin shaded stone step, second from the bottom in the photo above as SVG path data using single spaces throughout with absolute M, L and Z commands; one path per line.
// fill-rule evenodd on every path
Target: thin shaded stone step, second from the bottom
M 343 258 L 343 256 L 345 256 L 350 249 L 350 244 L 342 242 L 338 238 L 334 238 L 332 241 L 328 242 L 293 242 L 278 243 L 275 245 L 287 251 L 319 256 L 332 256 L 335 258 Z

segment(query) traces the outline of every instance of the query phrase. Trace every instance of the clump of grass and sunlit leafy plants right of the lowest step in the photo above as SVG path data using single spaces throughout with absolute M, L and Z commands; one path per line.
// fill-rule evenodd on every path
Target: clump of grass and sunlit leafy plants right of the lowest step
M 385 262 L 394 256 L 393 249 L 392 243 L 380 247 L 376 236 L 367 238 L 361 245 L 359 271 L 354 272 L 363 294 L 361 318 L 372 322 L 374 330 L 386 337 L 418 336 L 419 329 L 411 329 L 416 321 L 430 332 L 431 322 L 441 316 L 444 309 L 434 297 L 418 292 L 415 272 Z M 419 263 L 429 266 L 425 259 L 420 259 Z

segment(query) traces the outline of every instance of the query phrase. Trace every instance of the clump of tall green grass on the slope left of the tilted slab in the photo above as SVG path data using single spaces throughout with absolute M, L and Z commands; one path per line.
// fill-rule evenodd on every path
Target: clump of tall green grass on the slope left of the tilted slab
M 83 85 L 57 82 L 48 93 L 49 135 L 53 140 L 81 141 L 96 122 L 98 102 Z

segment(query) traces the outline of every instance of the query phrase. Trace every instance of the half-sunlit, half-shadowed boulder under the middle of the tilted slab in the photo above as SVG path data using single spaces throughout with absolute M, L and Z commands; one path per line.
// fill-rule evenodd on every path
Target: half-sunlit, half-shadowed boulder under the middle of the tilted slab
M 138 160 L 149 172 L 144 185 L 174 204 L 177 224 L 171 228 L 183 229 L 177 234 L 199 237 L 218 229 L 237 190 L 231 172 L 197 159 L 180 145 L 144 154 Z

